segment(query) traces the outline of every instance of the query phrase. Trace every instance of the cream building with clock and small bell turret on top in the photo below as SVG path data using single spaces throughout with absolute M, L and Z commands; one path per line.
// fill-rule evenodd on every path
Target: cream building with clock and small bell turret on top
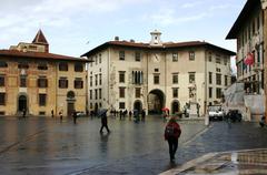
M 89 109 L 141 110 L 170 113 L 186 104 L 220 103 L 221 91 L 230 85 L 234 52 L 207 42 L 162 42 L 154 31 L 149 43 L 106 42 L 82 56 L 89 64 Z M 196 110 L 196 109 L 195 109 Z M 197 113 L 197 112 L 196 112 Z

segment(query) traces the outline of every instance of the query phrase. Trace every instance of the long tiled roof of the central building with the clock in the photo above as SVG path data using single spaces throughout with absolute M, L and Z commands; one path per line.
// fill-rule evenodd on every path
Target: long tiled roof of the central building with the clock
M 142 42 L 129 42 L 129 41 L 108 41 L 101 45 L 98 45 L 97 48 L 88 51 L 87 53 L 82 54 L 81 56 L 89 56 L 92 55 L 96 52 L 99 52 L 103 49 L 107 49 L 108 47 L 125 47 L 125 48 L 136 48 L 136 49 L 147 49 L 147 50 L 168 50 L 168 49 L 181 49 L 181 48 L 188 48 L 188 47 L 206 47 L 206 48 L 212 48 L 218 49 L 222 52 L 226 52 L 230 55 L 236 55 L 235 52 L 226 50 L 224 48 L 210 44 L 208 42 L 201 42 L 201 41 L 189 41 L 189 42 L 166 42 L 162 43 L 162 45 L 150 45 L 149 43 L 142 43 Z

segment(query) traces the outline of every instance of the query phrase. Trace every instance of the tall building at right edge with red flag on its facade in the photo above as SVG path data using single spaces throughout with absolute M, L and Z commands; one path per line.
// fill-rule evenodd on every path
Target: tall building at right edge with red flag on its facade
M 237 81 L 245 83 L 247 93 L 263 93 L 265 39 L 260 0 L 247 0 L 226 39 L 237 40 Z

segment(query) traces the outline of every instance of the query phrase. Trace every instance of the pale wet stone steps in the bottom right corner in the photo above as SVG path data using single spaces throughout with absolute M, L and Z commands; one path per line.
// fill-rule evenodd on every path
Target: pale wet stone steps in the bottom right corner
M 267 148 L 209 153 L 160 175 L 267 174 Z

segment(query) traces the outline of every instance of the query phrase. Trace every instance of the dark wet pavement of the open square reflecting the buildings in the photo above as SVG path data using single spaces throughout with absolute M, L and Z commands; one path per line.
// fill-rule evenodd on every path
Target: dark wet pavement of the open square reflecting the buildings
M 0 119 L 0 174 L 159 174 L 210 152 L 267 147 L 267 130 L 253 123 L 182 121 L 176 163 L 170 163 L 160 117 L 135 123 L 109 119 Z

